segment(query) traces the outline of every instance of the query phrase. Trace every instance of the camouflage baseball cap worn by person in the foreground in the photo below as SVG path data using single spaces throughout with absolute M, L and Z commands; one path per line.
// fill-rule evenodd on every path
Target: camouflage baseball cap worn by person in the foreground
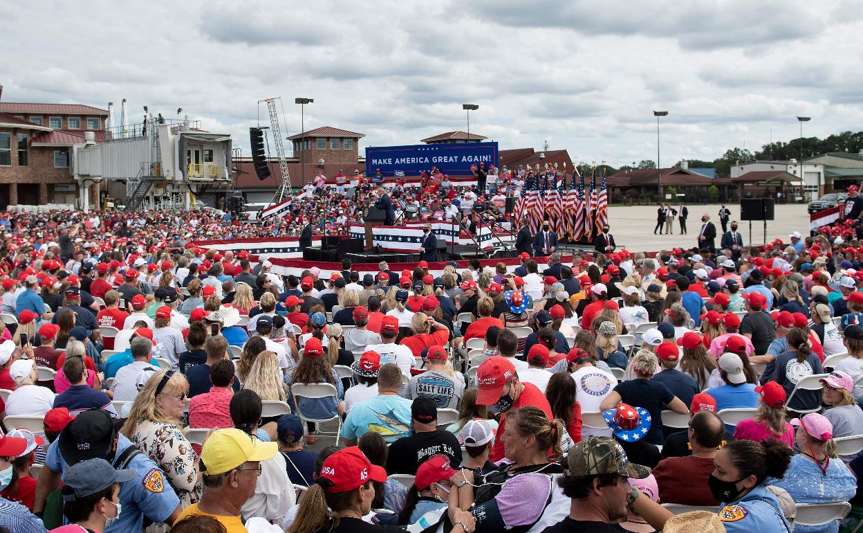
M 570 448 L 566 475 L 581 478 L 602 473 L 644 479 L 650 475 L 650 468 L 629 462 L 626 452 L 611 437 L 589 436 Z

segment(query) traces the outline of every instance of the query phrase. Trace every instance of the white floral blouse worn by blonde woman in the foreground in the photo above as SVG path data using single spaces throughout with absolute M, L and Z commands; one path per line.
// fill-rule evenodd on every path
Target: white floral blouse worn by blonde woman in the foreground
M 201 499 L 198 460 L 182 430 L 168 422 L 141 419 L 130 441 L 159 465 L 185 509 Z

